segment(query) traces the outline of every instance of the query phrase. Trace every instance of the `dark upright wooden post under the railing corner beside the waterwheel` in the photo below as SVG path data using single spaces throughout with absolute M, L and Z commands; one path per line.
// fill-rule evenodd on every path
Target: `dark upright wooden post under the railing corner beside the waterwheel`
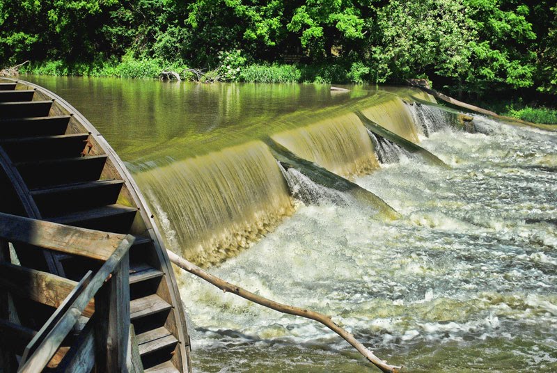
M 95 366 L 97 372 L 125 372 L 130 338 L 130 255 L 95 294 Z

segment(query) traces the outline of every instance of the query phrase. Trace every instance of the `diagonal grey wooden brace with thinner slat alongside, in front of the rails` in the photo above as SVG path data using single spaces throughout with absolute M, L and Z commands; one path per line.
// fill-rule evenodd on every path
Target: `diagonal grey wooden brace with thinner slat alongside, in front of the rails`
M 81 280 L 72 294 L 68 296 L 68 299 L 54 312 L 45 326 L 41 328 L 36 337 L 29 343 L 26 353 L 22 357 L 22 367 L 20 367 L 19 372 L 39 372 L 47 365 L 65 336 L 68 335 L 77 322 L 81 312 L 85 310 L 89 301 L 104 285 L 110 273 L 116 269 L 123 257 L 127 255 L 133 241 L 134 237 L 127 235 L 113 255 L 97 271 L 95 277 L 88 281 L 88 285 L 86 285 L 87 279 L 91 278 L 91 276 L 86 276 L 84 280 Z

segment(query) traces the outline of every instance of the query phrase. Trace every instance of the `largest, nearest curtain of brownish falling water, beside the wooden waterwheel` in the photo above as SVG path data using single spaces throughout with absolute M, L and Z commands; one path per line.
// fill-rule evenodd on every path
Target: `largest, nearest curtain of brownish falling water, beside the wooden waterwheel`
M 196 264 L 221 262 L 293 211 L 288 185 L 259 141 L 137 174 L 168 247 Z

